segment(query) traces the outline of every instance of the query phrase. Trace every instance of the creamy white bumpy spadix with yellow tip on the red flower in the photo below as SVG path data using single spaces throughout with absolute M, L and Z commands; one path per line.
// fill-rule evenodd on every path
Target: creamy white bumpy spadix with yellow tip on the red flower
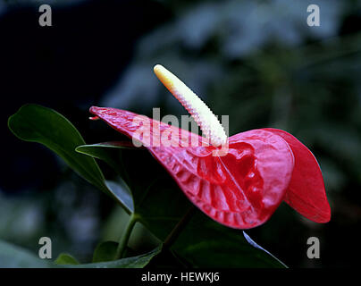
M 187 109 L 194 121 L 197 122 L 206 139 L 209 139 L 210 143 L 215 147 L 224 145 L 227 142 L 227 135 L 222 124 L 209 107 L 171 71 L 165 69 L 164 66 L 156 64 L 154 71 L 165 88 L 168 88 L 181 105 Z

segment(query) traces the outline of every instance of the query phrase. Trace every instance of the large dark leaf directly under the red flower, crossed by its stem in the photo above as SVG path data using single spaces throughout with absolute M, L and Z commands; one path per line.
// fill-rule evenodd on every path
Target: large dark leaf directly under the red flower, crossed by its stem
M 108 158 L 122 160 L 117 164 L 126 167 L 127 183 L 140 222 L 164 241 L 191 205 L 172 177 L 147 150 L 124 149 L 115 147 L 116 144 L 101 143 L 77 150 L 105 162 L 109 162 Z M 200 211 L 196 212 L 172 250 L 177 257 L 197 267 L 284 267 L 269 252 L 259 246 L 256 248 L 256 243 L 251 244 L 242 231 L 222 226 Z

